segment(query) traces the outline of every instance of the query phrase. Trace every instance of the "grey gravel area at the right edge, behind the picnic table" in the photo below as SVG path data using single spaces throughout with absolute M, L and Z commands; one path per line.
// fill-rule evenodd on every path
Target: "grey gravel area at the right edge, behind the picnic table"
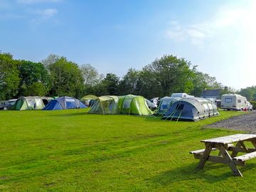
M 231 117 L 229 119 L 207 125 L 206 127 L 227 128 L 256 134 L 256 112 L 254 111 L 249 114 Z

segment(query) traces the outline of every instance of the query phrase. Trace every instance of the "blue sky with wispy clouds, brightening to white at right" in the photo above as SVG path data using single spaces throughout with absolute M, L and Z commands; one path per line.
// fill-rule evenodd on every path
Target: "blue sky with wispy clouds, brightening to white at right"
M 255 20 L 253 0 L 0 0 L 0 50 L 120 77 L 173 54 L 239 89 L 256 85 Z

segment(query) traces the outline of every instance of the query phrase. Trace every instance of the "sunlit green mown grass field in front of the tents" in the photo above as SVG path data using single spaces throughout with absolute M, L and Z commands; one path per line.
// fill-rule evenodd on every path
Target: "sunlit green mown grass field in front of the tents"
M 94 115 L 86 110 L 1 111 L 0 191 L 255 191 L 256 161 L 196 170 L 201 139 L 237 132 L 199 122 Z

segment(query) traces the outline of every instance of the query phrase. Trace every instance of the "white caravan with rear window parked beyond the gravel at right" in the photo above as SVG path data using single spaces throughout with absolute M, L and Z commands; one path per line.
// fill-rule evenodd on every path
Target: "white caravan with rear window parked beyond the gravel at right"
M 224 110 L 245 110 L 247 99 L 238 94 L 224 94 L 221 96 L 220 108 Z

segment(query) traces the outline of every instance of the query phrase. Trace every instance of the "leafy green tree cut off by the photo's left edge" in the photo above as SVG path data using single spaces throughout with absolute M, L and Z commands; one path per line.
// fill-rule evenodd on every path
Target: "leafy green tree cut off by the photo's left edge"
M 0 100 L 16 96 L 20 78 L 16 60 L 9 53 L 0 53 Z

